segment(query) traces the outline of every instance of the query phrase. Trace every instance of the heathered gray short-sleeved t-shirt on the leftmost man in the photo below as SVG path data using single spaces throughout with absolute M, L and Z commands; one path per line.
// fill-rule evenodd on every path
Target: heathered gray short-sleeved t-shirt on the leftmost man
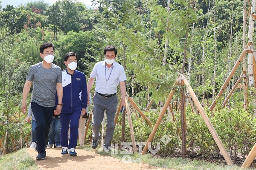
M 52 64 L 52 68 L 44 68 L 42 62 L 32 65 L 27 76 L 33 82 L 31 102 L 44 107 L 55 106 L 56 83 L 62 83 L 61 68 Z

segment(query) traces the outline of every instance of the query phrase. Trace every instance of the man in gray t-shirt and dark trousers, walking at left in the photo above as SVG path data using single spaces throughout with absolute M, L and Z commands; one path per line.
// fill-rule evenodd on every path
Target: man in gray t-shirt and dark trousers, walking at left
M 44 160 L 46 157 L 46 139 L 48 137 L 52 114 L 56 109 L 55 115 L 61 113 L 62 108 L 62 74 L 61 68 L 52 64 L 54 59 L 54 46 L 47 42 L 40 46 L 40 57 L 43 59 L 32 65 L 27 75 L 26 83 L 23 88 L 22 112 L 26 113 L 26 99 L 33 82 L 31 108 L 36 121 L 35 150 L 38 152 L 36 160 Z M 55 93 L 58 96 L 58 105 L 55 108 Z

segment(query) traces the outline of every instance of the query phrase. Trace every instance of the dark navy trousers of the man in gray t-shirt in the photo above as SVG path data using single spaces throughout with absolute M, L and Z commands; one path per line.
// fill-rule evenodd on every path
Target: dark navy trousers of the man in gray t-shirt
M 31 102 L 31 109 L 35 116 L 36 121 L 36 140 L 38 146 L 38 152 L 44 152 L 46 147 L 46 141 L 48 139 L 48 133 L 52 121 L 52 115 L 55 107 L 47 108 L 38 105 L 35 102 Z

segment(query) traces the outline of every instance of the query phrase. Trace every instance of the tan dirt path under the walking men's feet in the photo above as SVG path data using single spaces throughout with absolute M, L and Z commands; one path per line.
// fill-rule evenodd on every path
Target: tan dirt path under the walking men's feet
M 37 156 L 34 148 L 28 148 L 33 159 Z M 124 162 L 110 156 L 102 156 L 93 151 L 76 149 L 77 156 L 61 155 L 61 148 L 46 150 L 43 161 L 36 161 L 41 170 L 167 170 L 148 164 Z

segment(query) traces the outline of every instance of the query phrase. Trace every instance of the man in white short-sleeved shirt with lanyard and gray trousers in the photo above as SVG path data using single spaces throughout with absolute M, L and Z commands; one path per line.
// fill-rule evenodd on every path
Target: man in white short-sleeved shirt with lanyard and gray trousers
M 93 96 L 93 141 L 92 148 L 98 147 L 99 130 L 104 117 L 104 111 L 107 113 L 105 147 L 107 150 L 111 146 L 111 139 L 114 133 L 114 118 L 116 106 L 118 103 L 116 92 L 117 85 L 120 85 L 121 91 L 121 107 L 125 108 L 125 70 L 122 65 L 114 62 L 117 54 L 117 49 L 113 45 L 109 45 L 104 49 L 105 61 L 97 62 L 90 78 L 87 82 L 88 94 L 96 79 L 95 94 Z M 88 97 L 89 99 L 89 97 Z M 105 149 L 104 148 L 104 149 Z

